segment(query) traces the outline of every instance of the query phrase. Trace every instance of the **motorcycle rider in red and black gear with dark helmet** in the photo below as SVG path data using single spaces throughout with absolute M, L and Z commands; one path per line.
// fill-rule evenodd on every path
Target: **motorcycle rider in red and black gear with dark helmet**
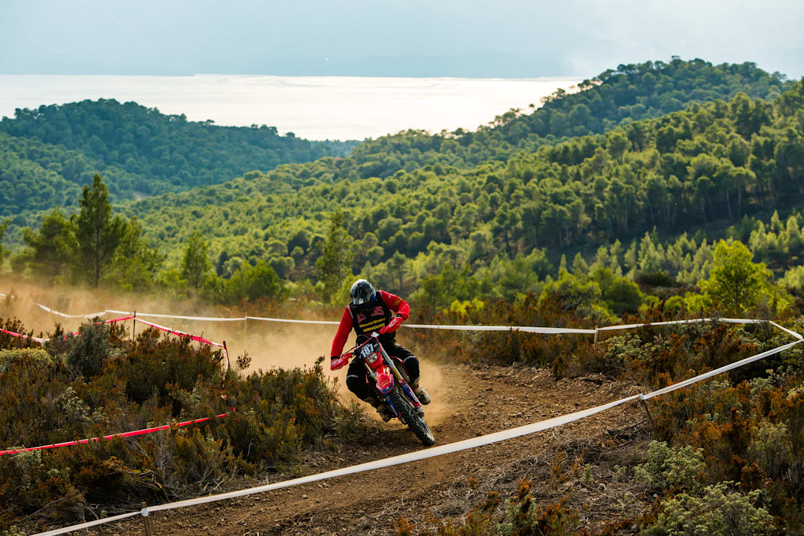
M 410 306 L 402 298 L 384 290 L 375 290 L 367 280 L 359 279 L 349 291 L 351 302 L 343 310 L 338 332 L 332 341 L 330 369 L 338 370 L 346 365 L 349 356 L 341 357 L 349 333 L 355 329 L 357 344 L 365 342 L 371 333 L 379 331 L 379 343 L 389 356 L 399 358 L 410 378 L 410 387 L 420 403 L 429 404 L 430 395 L 419 385 L 419 360 L 410 350 L 396 343 L 396 329 L 408 320 Z M 353 361 L 347 370 L 347 387 L 363 402 L 375 407 L 385 422 L 392 418 L 391 411 L 375 395 L 367 382 L 368 370 L 362 362 Z

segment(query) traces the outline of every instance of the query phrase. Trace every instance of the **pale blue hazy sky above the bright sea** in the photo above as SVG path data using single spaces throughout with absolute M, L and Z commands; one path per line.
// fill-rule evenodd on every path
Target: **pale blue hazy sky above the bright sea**
M 804 75 L 800 0 L 0 0 L 0 73 L 594 76 L 702 58 Z

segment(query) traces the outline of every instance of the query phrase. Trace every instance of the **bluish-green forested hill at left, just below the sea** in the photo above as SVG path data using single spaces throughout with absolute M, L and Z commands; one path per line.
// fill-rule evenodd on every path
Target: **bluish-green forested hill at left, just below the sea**
M 113 198 L 121 201 L 219 184 L 285 162 L 343 156 L 356 145 L 280 136 L 265 125 L 187 121 L 183 115 L 105 99 L 17 109 L 14 118 L 0 121 L 0 133 L 7 134 L 0 137 L 0 180 L 18 190 L 13 203 L 6 200 L 0 210 L 75 202 L 69 186 L 57 194 L 47 189 L 65 186 L 61 178 L 84 186 L 102 173 Z

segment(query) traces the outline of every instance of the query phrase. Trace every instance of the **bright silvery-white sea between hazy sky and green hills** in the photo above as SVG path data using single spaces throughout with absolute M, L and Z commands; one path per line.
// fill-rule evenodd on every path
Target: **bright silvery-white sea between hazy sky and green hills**
M 134 101 L 188 121 L 269 125 L 310 140 L 363 140 L 424 129 L 477 129 L 511 108 L 527 111 L 580 79 L 363 76 L 0 75 L 0 117 L 16 108 L 79 100 Z

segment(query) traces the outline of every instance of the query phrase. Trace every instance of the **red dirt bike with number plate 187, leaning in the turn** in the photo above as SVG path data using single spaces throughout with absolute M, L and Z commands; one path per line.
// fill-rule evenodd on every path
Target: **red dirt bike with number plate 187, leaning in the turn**
M 398 358 L 391 358 L 379 343 L 379 333 L 371 333 L 368 340 L 343 354 L 342 357 L 359 359 L 368 370 L 367 382 L 375 395 L 391 410 L 392 415 L 407 425 L 425 447 L 436 442 L 433 432 L 425 423 L 425 410 L 408 385 L 408 373 Z

